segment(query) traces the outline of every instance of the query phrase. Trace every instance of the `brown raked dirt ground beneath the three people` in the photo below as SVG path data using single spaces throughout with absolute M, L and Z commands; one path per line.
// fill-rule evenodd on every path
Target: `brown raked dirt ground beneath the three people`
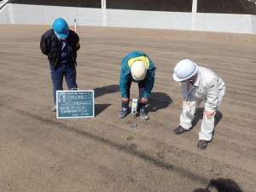
M 79 26 L 77 80 L 95 90 L 96 117 L 56 119 L 39 49 L 49 28 L 0 25 L 0 191 L 256 191 L 255 35 Z M 133 50 L 157 67 L 148 121 L 117 117 L 120 61 Z M 203 104 L 193 130 L 172 132 L 182 108 L 172 70 L 185 58 L 227 87 L 207 150 L 196 148 Z

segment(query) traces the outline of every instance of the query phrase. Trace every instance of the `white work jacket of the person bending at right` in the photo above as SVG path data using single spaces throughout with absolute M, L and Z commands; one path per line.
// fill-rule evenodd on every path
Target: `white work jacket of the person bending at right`
M 183 102 L 205 100 L 205 110 L 215 112 L 219 98 L 224 96 L 225 84 L 212 70 L 198 67 L 194 84 L 181 83 Z

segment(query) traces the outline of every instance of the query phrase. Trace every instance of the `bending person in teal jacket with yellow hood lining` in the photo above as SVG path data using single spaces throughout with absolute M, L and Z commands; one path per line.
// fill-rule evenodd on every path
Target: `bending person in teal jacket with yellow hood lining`
M 129 109 L 131 81 L 138 84 L 138 112 L 142 119 L 147 120 L 145 105 L 154 87 L 154 67 L 148 55 L 140 51 L 133 51 L 126 55 L 121 63 L 119 79 L 120 94 L 122 96 L 122 108 L 119 118 L 125 118 Z

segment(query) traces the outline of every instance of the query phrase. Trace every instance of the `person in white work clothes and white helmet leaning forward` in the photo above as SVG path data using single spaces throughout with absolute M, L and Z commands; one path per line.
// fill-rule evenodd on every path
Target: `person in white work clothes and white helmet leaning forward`
M 189 131 L 195 117 L 195 109 L 205 101 L 205 110 L 199 132 L 198 148 L 207 148 L 212 140 L 214 130 L 214 116 L 222 102 L 225 84 L 215 73 L 205 67 L 198 67 L 188 59 L 179 61 L 174 67 L 173 79 L 180 82 L 183 96 L 183 112 L 180 124 L 174 130 L 176 135 Z

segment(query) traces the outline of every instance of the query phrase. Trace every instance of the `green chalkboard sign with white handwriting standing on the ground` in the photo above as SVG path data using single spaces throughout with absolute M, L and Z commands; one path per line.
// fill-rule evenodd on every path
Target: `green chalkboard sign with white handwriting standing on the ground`
M 94 90 L 57 90 L 56 117 L 94 118 Z

